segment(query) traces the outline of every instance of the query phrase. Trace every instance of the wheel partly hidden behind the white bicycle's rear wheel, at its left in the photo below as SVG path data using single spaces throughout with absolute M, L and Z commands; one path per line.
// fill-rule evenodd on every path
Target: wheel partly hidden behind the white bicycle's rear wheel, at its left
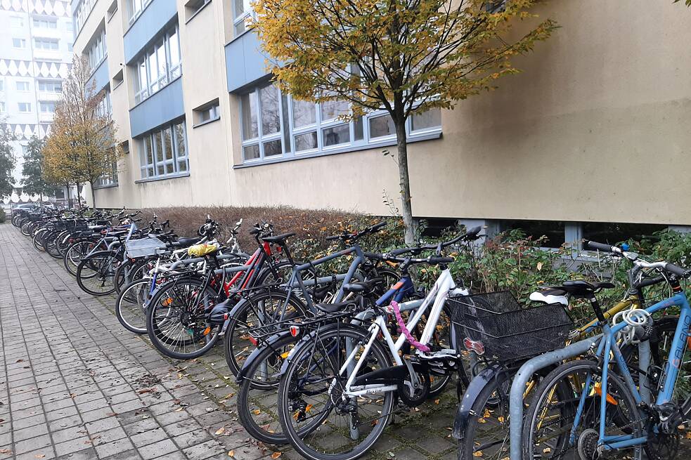
M 278 421 L 280 367 L 299 339 L 285 336 L 264 347 L 245 370 L 238 392 L 238 416 L 252 438 L 266 444 L 287 444 Z

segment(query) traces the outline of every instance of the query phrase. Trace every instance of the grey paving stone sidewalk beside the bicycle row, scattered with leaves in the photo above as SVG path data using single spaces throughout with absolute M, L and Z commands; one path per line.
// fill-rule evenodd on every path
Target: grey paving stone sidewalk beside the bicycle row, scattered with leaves
M 0 224 L 0 460 L 276 457 L 238 423 L 220 347 L 167 360 L 117 322 L 114 301 L 84 294 L 62 261 Z M 365 458 L 456 459 L 455 407 L 451 388 L 396 416 Z

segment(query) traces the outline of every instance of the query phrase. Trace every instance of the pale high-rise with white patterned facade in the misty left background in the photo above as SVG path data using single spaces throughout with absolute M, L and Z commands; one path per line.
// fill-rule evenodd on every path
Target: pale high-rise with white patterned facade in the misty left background
M 0 124 L 15 136 L 15 190 L 22 193 L 22 157 L 32 136 L 50 130 L 62 80 L 72 63 L 73 27 L 68 0 L 0 1 Z

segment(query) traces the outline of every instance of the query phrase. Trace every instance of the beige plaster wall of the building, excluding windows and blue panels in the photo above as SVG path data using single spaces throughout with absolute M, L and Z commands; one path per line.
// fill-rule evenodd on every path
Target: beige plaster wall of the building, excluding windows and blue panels
M 162 1 L 169 0 L 148 8 Z M 96 30 L 108 3 L 98 0 L 100 13 L 85 29 Z M 399 196 L 396 164 L 382 155 L 391 146 L 242 164 L 238 91 L 262 74 L 263 60 L 245 45 L 229 53 L 252 33 L 233 38 L 231 1 L 212 0 L 191 18 L 187 4 L 176 6 L 189 176 L 141 182 L 142 143 L 128 126 L 134 70 L 124 66 L 124 83 L 112 90 L 113 118 L 130 153 L 119 185 L 97 191 L 99 206 L 290 204 L 389 213 L 383 197 L 397 204 Z M 105 23 L 111 79 L 124 65 L 124 11 L 119 1 L 119 19 Z M 561 28 L 515 60 L 523 72 L 443 111 L 440 138 L 409 145 L 413 213 L 691 225 L 689 12 L 645 0 L 555 1 L 536 12 Z M 86 40 L 77 37 L 75 47 Z M 195 109 L 217 98 L 220 120 L 195 127 Z

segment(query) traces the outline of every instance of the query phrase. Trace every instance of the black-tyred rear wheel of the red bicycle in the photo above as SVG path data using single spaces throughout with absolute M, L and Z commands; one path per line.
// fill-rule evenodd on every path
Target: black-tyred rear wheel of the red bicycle
M 211 324 L 207 314 L 217 293 L 204 281 L 183 278 L 162 284 L 146 310 L 146 329 L 153 345 L 178 360 L 200 357 L 219 338 L 221 325 Z

